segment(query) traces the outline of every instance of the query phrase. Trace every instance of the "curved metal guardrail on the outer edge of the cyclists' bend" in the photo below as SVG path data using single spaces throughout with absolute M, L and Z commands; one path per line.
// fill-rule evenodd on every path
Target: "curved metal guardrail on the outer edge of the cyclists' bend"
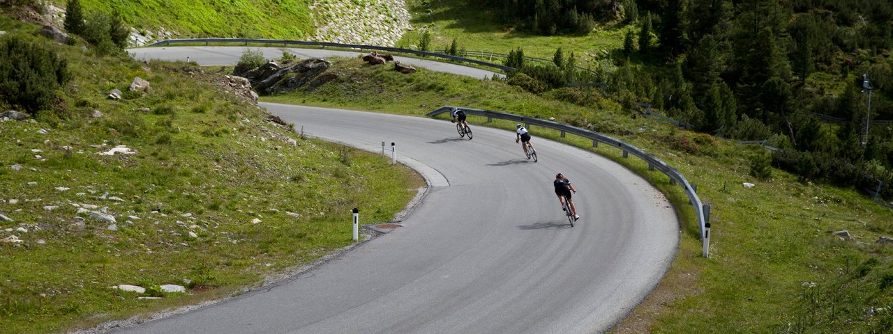
M 563 123 L 553 122 L 551 120 L 540 119 L 540 118 L 530 118 L 515 114 L 509 114 L 505 112 L 492 111 L 492 110 L 480 110 L 480 109 L 472 109 L 472 108 L 464 108 L 464 107 L 454 107 L 454 106 L 443 106 L 438 108 L 437 110 L 431 111 L 427 114 L 429 117 L 437 116 L 444 112 L 451 112 L 459 108 L 465 111 L 468 115 L 475 116 L 483 116 L 487 118 L 488 122 L 491 122 L 493 118 L 499 119 L 507 119 L 512 120 L 518 123 L 524 123 L 528 128 L 531 125 L 534 126 L 543 126 L 558 130 L 561 132 L 561 136 L 564 137 L 565 134 L 576 134 L 581 137 L 592 139 L 592 146 L 597 147 L 598 143 L 605 143 L 612 147 L 616 147 L 623 151 L 623 158 L 628 158 L 629 154 L 638 157 L 639 159 L 645 160 L 648 163 L 649 170 L 659 170 L 664 175 L 670 177 L 670 183 L 676 184 L 679 183 L 682 186 L 682 189 L 685 191 L 686 195 L 689 196 L 689 203 L 691 203 L 692 208 L 695 209 L 695 213 L 697 215 L 697 224 L 701 230 L 701 240 L 705 242 L 704 248 L 704 257 L 707 257 L 707 248 L 706 242 L 709 240 L 710 236 L 710 205 L 702 204 L 701 199 L 697 197 L 697 187 L 693 186 L 689 183 L 689 180 L 682 176 L 682 174 L 676 170 L 676 168 L 670 167 L 665 162 L 660 159 L 655 158 L 655 156 L 648 154 L 646 151 L 638 149 L 635 146 L 632 146 L 628 143 L 624 143 L 620 140 L 609 137 L 605 134 L 599 134 L 594 131 L 589 131 L 584 128 L 580 128 L 577 126 L 570 126 Z

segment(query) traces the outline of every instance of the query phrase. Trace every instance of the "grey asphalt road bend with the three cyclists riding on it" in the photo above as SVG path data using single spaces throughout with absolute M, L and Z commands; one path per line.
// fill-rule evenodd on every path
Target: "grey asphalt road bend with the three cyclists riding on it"
M 654 289 L 678 246 L 663 194 L 536 129 L 533 163 L 503 130 L 475 126 L 468 141 L 443 120 L 264 106 L 321 139 L 396 143 L 428 194 L 405 227 L 291 281 L 121 332 L 601 332 Z M 557 172 L 578 189 L 575 227 L 552 193 Z

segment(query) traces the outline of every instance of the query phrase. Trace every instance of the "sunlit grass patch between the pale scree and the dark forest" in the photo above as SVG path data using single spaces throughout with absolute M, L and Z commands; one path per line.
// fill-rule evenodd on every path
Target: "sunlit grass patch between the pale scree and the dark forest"
M 407 31 L 396 46 L 419 45 L 423 27 L 430 27 L 432 50 L 443 52 L 455 38 L 459 48 L 470 51 L 509 53 L 522 47 L 524 55 L 552 59 L 560 46 L 565 56 L 575 53 L 586 67 L 587 61 L 603 58 L 602 51 L 622 48 L 622 27 L 597 27 L 587 35 L 538 36 L 518 31 L 500 23 L 494 12 L 485 6 L 459 0 L 408 0 L 407 8 L 413 16 L 413 31 Z M 430 12 L 429 12 L 430 11 Z

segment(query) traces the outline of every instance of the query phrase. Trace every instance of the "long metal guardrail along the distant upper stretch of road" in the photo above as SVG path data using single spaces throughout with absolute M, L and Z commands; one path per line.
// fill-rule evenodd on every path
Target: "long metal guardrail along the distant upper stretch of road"
M 146 46 L 160 46 L 160 45 L 171 45 L 171 43 L 204 43 L 204 45 L 208 45 L 208 43 L 259 43 L 259 44 L 273 44 L 273 45 L 310 45 L 310 46 L 322 46 L 322 47 L 343 47 L 348 49 L 360 49 L 360 50 L 377 50 L 377 51 L 387 51 L 389 53 L 413 53 L 416 55 L 434 57 L 434 59 L 443 58 L 449 61 L 459 61 L 459 62 L 467 62 L 470 64 L 476 64 L 480 66 L 485 66 L 493 69 L 499 69 L 504 72 L 514 70 L 512 67 L 508 67 L 505 65 L 495 64 L 487 61 L 478 61 L 475 59 L 468 59 L 463 57 L 457 57 L 450 54 L 444 53 L 430 53 L 427 51 L 419 51 L 413 49 L 405 49 L 402 47 L 390 47 L 390 46 L 378 46 L 378 45 L 357 45 L 357 44 L 341 44 L 341 43 L 330 43 L 330 42 L 311 42 L 311 41 L 293 41 L 287 39 L 257 39 L 257 38 L 185 38 L 185 39 L 166 39 L 160 42 L 155 42 Z

